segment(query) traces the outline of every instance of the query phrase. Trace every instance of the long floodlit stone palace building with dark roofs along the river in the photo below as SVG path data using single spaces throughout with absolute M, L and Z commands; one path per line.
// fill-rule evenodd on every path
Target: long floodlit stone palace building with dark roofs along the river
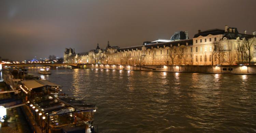
M 211 29 L 188 39 L 187 32 L 178 31 L 170 40 L 158 39 L 143 45 L 105 48 L 99 44 L 85 53 L 66 48 L 65 63 L 125 64 L 125 65 L 231 65 L 256 62 L 256 36 L 239 33 L 237 28 Z

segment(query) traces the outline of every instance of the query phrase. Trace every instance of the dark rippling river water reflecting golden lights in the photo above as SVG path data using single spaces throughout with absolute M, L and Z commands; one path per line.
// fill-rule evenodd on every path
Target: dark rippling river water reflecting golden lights
M 41 78 L 96 104 L 100 133 L 256 132 L 256 76 L 98 69 Z

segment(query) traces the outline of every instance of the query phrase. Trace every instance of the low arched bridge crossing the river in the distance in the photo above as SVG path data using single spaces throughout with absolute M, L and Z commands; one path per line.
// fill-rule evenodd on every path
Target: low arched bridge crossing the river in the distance
M 15 64 L 2 64 L 2 66 L 10 66 L 10 67 L 18 67 L 18 68 L 24 68 L 24 67 L 35 67 L 36 65 L 43 65 L 43 66 L 49 66 L 52 68 L 56 68 L 63 65 L 69 65 L 72 68 L 79 68 L 79 65 L 81 64 L 72 64 L 72 63 L 15 63 Z

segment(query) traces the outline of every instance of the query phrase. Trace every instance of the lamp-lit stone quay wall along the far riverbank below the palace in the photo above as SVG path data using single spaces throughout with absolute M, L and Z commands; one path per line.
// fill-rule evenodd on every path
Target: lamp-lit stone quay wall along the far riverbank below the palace
M 191 73 L 250 73 L 256 74 L 256 65 L 108 65 L 108 64 L 79 64 L 78 68 L 167 71 Z

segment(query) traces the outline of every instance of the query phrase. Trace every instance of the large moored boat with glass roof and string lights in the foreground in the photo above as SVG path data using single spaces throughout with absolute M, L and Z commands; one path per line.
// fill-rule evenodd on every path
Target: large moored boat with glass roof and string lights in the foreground
M 48 80 L 23 80 L 19 85 L 25 105 L 22 110 L 36 133 L 96 133 L 94 104 L 68 97 L 61 86 Z

